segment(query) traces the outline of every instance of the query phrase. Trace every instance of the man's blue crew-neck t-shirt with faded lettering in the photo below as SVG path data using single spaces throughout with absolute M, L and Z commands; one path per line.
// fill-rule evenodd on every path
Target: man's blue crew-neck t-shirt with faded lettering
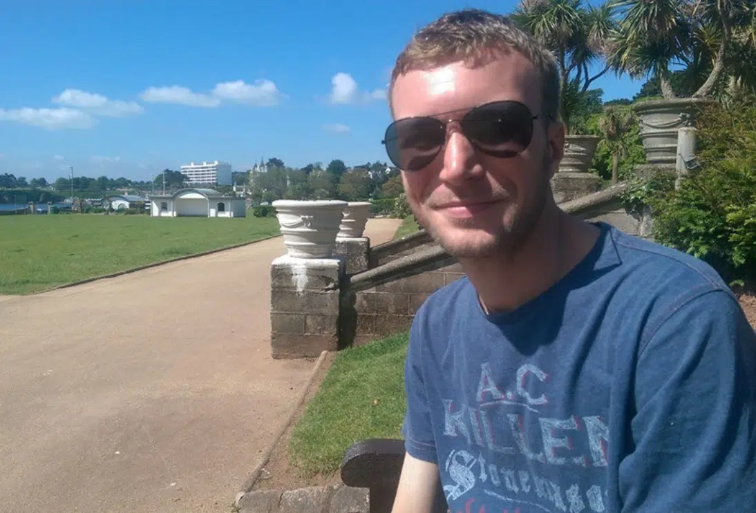
M 547 292 L 417 312 L 407 453 L 451 511 L 756 511 L 756 334 L 707 264 L 608 224 Z

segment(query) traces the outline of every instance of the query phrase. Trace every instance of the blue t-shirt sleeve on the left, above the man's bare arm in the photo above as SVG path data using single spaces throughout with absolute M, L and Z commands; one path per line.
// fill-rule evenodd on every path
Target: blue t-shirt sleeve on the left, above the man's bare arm
M 415 315 L 410 331 L 410 345 L 404 363 L 404 392 L 407 396 L 407 411 L 401 434 L 404 447 L 413 458 L 437 463 L 435 440 L 431 425 L 430 406 L 423 376 L 423 351 L 429 343 L 426 340 L 425 308 Z

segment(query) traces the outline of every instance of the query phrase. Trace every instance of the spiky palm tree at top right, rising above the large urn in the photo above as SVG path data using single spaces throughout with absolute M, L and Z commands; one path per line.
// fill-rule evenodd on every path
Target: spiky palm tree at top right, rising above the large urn
M 609 37 L 610 66 L 658 78 L 665 99 L 677 97 L 673 68 L 683 69 L 693 98 L 715 97 L 728 83 L 756 83 L 748 59 L 756 53 L 756 1 L 612 0 L 612 8 L 623 16 Z

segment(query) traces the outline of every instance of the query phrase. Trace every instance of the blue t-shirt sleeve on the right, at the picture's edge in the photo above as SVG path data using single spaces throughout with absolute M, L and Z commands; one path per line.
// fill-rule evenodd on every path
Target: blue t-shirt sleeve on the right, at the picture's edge
M 756 334 L 728 292 L 680 305 L 640 348 L 622 511 L 756 511 Z

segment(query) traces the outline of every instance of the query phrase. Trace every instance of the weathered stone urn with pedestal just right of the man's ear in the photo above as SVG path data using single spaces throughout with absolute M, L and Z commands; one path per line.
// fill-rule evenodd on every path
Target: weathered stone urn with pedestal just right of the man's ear
M 551 179 L 557 203 L 571 201 L 601 189 L 601 178 L 588 172 L 599 141 L 601 138 L 597 135 L 565 137 L 565 154 Z

